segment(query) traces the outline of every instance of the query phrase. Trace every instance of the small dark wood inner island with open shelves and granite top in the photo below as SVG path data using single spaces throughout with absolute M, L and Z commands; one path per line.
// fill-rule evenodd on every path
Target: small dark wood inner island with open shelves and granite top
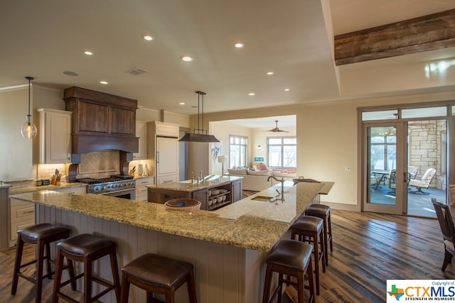
M 147 201 L 163 204 L 170 199 L 188 198 L 198 200 L 200 209 L 219 209 L 242 199 L 242 179 L 243 177 L 209 175 L 200 181 L 148 185 Z

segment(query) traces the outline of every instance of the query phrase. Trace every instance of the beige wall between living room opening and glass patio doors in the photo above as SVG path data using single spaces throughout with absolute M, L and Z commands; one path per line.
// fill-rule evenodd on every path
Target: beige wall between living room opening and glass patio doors
M 360 155 L 358 155 L 358 107 L 454 100 L 455 90 L 365 98 L 326 104 L 279 106 L 247 111 L 205 114 L 205 121 L 296 114 L 297 174 L 336 182 L 323 202 L 358 205 Z M 224 147 L 223 147 L 224 148 Z M 347 171 L 346 167 L 350 167 Z

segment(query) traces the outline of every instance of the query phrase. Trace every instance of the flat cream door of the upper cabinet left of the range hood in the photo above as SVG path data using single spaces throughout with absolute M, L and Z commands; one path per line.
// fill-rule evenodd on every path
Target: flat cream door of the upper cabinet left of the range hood
M 45 113 L 45 163 L 71 160 L 71 114 Z

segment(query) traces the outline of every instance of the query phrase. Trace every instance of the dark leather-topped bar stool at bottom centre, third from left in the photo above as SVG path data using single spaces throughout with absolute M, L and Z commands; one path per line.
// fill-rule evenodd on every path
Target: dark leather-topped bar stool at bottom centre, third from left
M 146 253 L 132 260 L 122 268 L 122 295 L 120 302 L 127 303 L 129 285 L 146 290 L 147 302 L 161 302 L 154 299 L 154 292 L 165 294 L 166 303 L 175 302 L 174 292 L 186 282 L 188 297 L 196 303 L 196 284 L 193 264 Z

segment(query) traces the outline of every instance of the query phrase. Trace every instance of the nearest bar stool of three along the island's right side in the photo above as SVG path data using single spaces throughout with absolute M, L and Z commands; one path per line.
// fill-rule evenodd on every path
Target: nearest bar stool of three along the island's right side
M 311 252 L 313 248 L 308 243 L 294 240 L 279 241 L 277 246 L 267 256 L 265 262 L 267 269 L 265 271 L 264 294 L 262 303 L 272 302 L 278 294 L 277 302 L 282 302 L 282 286 L 294 285 L 297 287 L 297 296 L 299 303 L 304 302 L 304 290 L 310 291 L 309 302 L 315 302 L 313 268 L 311 265 Z M 273 272 L 278 273 L 278 286 L 269 299 L 270 285 L 272 283 Z M 304 276 L 308 273 L 309 285 L 304 285 Z M 287 278 L 283 276 L 287 275 Z M 297 282 L 291 281 L 291 277 L 296 277 Z

